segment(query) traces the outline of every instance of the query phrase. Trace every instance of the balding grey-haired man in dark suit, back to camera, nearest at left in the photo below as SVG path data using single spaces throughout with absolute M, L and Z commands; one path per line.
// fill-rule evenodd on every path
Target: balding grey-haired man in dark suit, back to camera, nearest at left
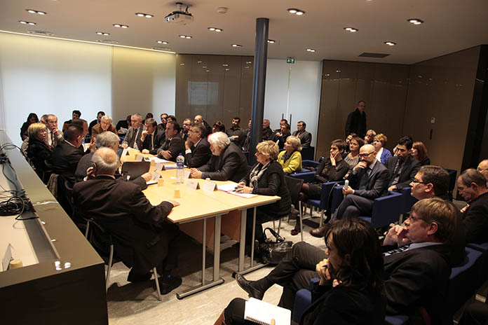
M 165 222 L 175 201 L 151 205 L 141 188 L 126 181 L 116 181 L 114 172 L 118 158 L 111 148 L 100 148 L 93 154 L 95 179 L 76 183 L 73 202 L 76 216 L 93 218 L 113 234 L 114 251 L 123 263 L 132 268 L 128 281 L 151 277 L 156 267 L 161 293 L 169 293 L 182 284 L 181 277 L 172 277 L 176 254 L 171 242 L 177 227 Z

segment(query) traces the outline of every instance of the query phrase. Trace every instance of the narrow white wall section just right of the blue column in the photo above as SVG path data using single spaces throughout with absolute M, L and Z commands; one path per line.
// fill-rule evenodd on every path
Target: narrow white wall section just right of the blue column
M 267 61 L 264 118 L 270 120 L 273 130 L 279 127 L 282 114 L 290 123 L 291 114 L 291 131 L 304 120 L 312 134 L 312 146 L 316 146 L 321 78 L 322 62 Z

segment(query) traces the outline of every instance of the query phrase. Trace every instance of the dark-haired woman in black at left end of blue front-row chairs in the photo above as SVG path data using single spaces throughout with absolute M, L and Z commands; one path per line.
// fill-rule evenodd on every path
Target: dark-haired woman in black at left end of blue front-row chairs
M 322 184 L 327 181 L 341 181 L 344 175 L 349 170 L 349 165 L 342 159 L 342 153 L 346 149 L 346 142 L 342 139 L 332 141 L 330 144 L 330 157 L 322 160 L 318 165 L 316 174 L 313 176 L 313 182 L 304 183 L 301 186 L 300 200 L 302 202 L 313 199 L 320 199 L 320 192 L 322 191 Z M 292 214 L 299 214 L 295 209 Z M 292 229 L 292 235 L 300 233 L 300 223 L 297 222 L 295 228 Z

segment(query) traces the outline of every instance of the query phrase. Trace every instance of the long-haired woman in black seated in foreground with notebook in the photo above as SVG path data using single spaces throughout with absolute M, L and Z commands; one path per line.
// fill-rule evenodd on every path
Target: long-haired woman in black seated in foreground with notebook
M 332 223 L 331 229 L 325 235 L 325 244 L 325 254 L 322 252 L 314 256 L 321 255 L 320 258 L 323 258 L 327 255 L 328 258 L 315 262 L 316 272 L 309 271 L 301 277 L 302 289 L 308 287 L 311 277 L 320 277 L 320 282 L 313 286 L 312 303 L 301 315 L 299 324 L 384 324 L 384 267 L 381 247 L 374 228 L 367 221 L 356 218 L 340 220 Z M 311 249 L 318 250 L 306 243 L 295 244 L 297 245 L 301 245 L 304 253 Z M 278 270 L 280 265 L 288 263 L 288 259 L 288 256 L 283 258 L 270 275 Z M 290 282 L 294 282 L 295 273 L 289 270 L 285 272 L 287 274 L 283 273 L 276 283 L 287 288 Z M 272 285 L 271 282 L 268 284 Z M 244 319 L 244 312 L 245 300 L 235 298 L 222 312 L 215 325 L 255 324 Z

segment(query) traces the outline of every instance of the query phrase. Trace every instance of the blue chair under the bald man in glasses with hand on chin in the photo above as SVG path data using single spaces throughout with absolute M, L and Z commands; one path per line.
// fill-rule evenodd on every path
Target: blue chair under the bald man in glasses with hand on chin
M 336 186 L 332 191 L 331 213 L 335 212 L 344 198 L 342 194 L 343 187 Z M 390 223 L 398 222 L 402 209 L 402 197 L 401 193 L 388 191 L 388 195 L 374 200 L 371 216 L 360 216 L 360 218 L 370 222 L 374 228 L 381 228 L 388 226 Z

